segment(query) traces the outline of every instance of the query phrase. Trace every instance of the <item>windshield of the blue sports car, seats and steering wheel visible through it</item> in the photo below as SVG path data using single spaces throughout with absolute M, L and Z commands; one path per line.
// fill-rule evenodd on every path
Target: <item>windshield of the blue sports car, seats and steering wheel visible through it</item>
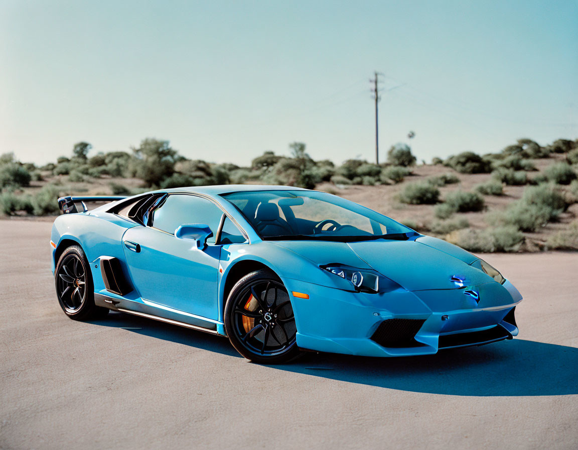
M 223 194 L 265 240 L 359 241 L 406 239 L 401 223 L 343 198 L 317 191 L 243 191 Z

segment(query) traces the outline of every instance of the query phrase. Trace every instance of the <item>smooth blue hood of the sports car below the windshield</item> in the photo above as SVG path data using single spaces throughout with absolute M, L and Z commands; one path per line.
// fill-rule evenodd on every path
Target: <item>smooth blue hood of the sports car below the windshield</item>
M 410 291 L 455 289 L 458 286 L 450 281 L 454 275 L 463 279 L 466 286 L 492 281 L 484 272 L 468 264 L 476 260 L 475 256 L 451 244 L 434 248 L 432 245 L 439 244 L 436 241 L 438 239 L 422 244 L 378 239 L 347 243 L 277 241 L 275 244 L 301 254 L 315 264 L 342 263 L 361 269 L 373 268 Z M 451 254 L 454 251 L 457 252 L 455 256 Z

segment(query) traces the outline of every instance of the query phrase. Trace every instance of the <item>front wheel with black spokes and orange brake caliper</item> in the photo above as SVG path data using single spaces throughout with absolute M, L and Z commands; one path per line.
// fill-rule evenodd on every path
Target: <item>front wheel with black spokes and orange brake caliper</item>
M 231 344 L 260 364 L 283 364 L 301 355 L 287 289 L 271 270 L 257 270 L 236 282 L 225 304 Z

